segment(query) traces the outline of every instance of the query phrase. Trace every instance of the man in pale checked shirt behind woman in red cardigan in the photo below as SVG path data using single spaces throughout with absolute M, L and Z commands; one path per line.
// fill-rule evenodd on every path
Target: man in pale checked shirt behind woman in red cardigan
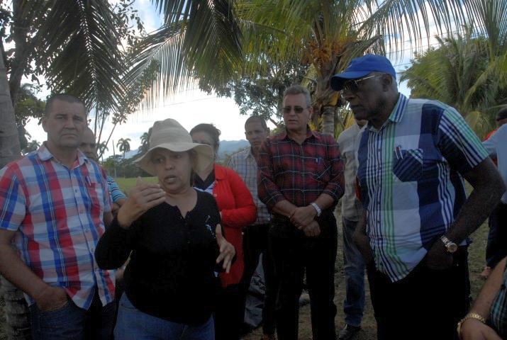
M 262 142 L 269 135 L 266 120 L 258 115 L 250 116 L 245 122 L 245 137 L 250 143 L 250 148 L 233 154 L 227 166 L 233 169 L 245 181 L 252 193 L 257 206 L 257 219 L 252 225 L 245 227 L 243 232 L 243 253 L 245 256 L 245 272 L 243 273 L 243 289 L 250 287 L 252 275 L 259 264 L 262 254 L 262 269 L 264 271 L 264 306 L 262 307 L 262 331 L 264 340 L 274 340 L 274 302 L 276 291 L 274 282 L 274 268 L 271 255 L 268 254 L 267 233 L 271 215 L 266 205 L 257 196 L 257 159 L 259 158 Z

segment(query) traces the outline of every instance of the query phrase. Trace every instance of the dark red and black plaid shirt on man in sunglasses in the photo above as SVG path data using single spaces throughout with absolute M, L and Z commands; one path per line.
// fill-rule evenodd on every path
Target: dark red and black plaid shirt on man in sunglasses
M 308 128 L 302 145 L 286 132 L 268 137 L 262 143 L 258 166 L 258 194 L 269 210 L 281 200 L 302 207 L 321 193 L 335 202 L 343 195 L 343 162 L 331 135 Z

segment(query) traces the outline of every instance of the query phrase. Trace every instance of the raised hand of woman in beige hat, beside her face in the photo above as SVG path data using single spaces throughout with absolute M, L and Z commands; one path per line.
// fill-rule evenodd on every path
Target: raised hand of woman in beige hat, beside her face
M 118 210 L 118 223 L 128 229 L 147 210 L 165 201 L 165 191 L 158 183 L 146 183 L 140 177 L 128 193 L 126 202 Z

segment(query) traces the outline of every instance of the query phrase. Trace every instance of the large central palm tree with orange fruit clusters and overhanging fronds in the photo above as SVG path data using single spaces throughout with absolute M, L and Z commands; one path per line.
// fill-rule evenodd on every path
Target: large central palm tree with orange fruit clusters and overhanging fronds
M 338 94 L 330 77 L 365 51 L 401 57 L 406 45 L 420 49 L 429 41 L 431 22 L 439 33 L 459 27 L 490 0 L 156 0 L 165 25 L 150 35 L 128 79 L 152 62 L 160 63 L 151 102 L 199 79 L 214 89 L 243 74 L 262 72 L 265 60 L 311 65 L 313 106 L 323 130 L 333 132 Z M 403 45 L 403 47 L 400 46 Z M 269 57 L 266 57 L 269 56 Z M 187 85 L 188 86 L 188 85 Z

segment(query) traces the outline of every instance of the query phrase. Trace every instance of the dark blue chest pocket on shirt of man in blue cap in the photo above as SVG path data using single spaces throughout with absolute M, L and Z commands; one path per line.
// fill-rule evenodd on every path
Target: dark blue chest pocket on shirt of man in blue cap
M 423 176 L 423 150 L 394 150 L 393 173 L 402 182 L 418 181 Z

